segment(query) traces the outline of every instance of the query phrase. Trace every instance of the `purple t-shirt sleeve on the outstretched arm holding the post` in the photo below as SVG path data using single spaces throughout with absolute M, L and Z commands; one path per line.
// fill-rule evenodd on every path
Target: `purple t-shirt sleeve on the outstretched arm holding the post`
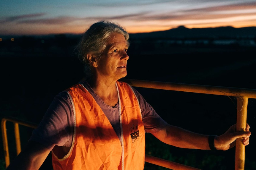
M 133 90 L 140 103 L 142 121 L 144 124 L 145 132 L 159 132 L 167 125 L 167 122 L 165 122 L 159 116 L 159 114 L 157 114 L 154 108 L 143 98 L 143 96 L 135 88 L 133 88 Z

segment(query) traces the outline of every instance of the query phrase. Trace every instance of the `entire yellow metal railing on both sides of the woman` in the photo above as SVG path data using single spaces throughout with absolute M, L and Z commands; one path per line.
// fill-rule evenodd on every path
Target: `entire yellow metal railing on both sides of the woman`
M 131 79 L 122 79 L 122 81 L 127 82 L 134 87 L 234 96 L 237 98 L 237 131 L 245 130 L 248 99 L 256 98 L 256 90 L 254 89 L 226 88 L 226 87 L 216 87 L 216 86 L 191 85 L 191 84 L 131 80 Z M 7 121 L 13 122 L 14 124 L 17 155 L 21 151 L 19 125 L 31 127 L 34 129 L 37 127 L 37 124 L 21 121 L 18 119 L 13 119 L 13 118 L 2 119 L 1 129 L 2 129 L 6 167 L 9 166 L 10 164 L 10 156 L 9 156 L 8 140 L 7 140 L 7 129 L 6 129 Z M 243 140 L 242 138 L 236 140 L 235 170 L 244 170 L 245 146 L 242 144 L 242 140 Z M 156 158 L 149 155 L 145 156 L 145 162 L 152 163 L 158 166 L 163 166 L 169 169 L 174 169 L 174 170 L 199 170 L 197 168 L 182 165 L 172 161 L 167 161 L 167 160 Z

